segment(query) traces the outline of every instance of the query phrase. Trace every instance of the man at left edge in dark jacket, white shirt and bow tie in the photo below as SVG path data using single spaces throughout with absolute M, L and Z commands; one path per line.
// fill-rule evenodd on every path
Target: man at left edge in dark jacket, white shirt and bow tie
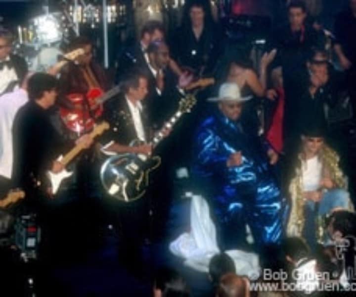
M 12 41 L 11 32 L 0 28 L 0 95 L 21 85 L 28 71 L 26 61 L 11 53 Z

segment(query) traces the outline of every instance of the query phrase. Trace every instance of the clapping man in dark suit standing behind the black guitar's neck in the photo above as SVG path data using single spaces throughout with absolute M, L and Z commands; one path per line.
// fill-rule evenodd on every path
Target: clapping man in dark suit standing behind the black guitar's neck
M 170 67 L 170 50 L 164 41 L 151 43 L 147 48 L 149 62 L 147 64 L 149 80 L 147 95 L 147 111 L 152 128 L 157 130 L 175 114 L 179 100 L 185 97 L 182 88 L 189 83 L 188 75 L 177 76 Z M 161 166 L 155 171 L 151 187 L 153 208 L 155 210 L 154 226 L 157 238 L 164 236 L 171 200 L 173 197 L 173 180 L 176 169 L 185 166 L 189 145 L 187 135 L 190 123 L 187 117 L 175 125 L 169 138 L 160 143 L 155 153 L 161 157 Z

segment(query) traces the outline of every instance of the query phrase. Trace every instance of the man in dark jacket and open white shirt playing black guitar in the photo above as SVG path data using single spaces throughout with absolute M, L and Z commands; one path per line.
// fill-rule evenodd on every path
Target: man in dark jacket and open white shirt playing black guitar
M 148 93 L 147 86 L 145 74 L 133 70 L 122 82 L 123 93 L 108 102 L 104 118 L 110 123 L 110 130 L 100 138 L 103 154 L 151 154 L 151 145 L 130 146 L 136 139 L 149 140 L 150 126 L 142 104 Z M 122 235 L 119 258 L 136 273 L 142 266 L 140 248 L 148 226 L 148 199 L 144 197 L 125 203 L 110 197 L 106 201 L 111 201 L 112 220 Z

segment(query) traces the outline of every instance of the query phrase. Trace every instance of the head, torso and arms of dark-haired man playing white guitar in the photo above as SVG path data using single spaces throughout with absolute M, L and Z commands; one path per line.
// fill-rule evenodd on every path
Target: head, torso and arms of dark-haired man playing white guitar
M 23 188 L 31 200 L 38 195 L 34 192 L 34 186 L 39 182 L 41 189 L 51 195 L 49 184 L 45 181 L 47 170 L 58 173 L 64 169 L 64 165 L 56 158 L 68 144 L 52 126 L 47 111 L 56 100 L 56 86 L 55 77 L 45 73 L 34 74 L 28 81 L 29 101 L 19 109 L 12 126 L 12 179 L 14 186 Z M 89 135 L 84 135 L 76 144 L 89 147 L 91 142 Z

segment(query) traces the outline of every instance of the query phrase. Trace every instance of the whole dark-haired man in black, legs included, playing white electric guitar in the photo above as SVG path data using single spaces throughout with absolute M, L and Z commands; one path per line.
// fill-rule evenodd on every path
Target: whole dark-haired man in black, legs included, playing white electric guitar
M 28 81 L 29 101 L 18 110 L 12 125 L 13 185 L 26 192 L 21 212 L 38 215 L 42 228 L 42 251 L 45 252 L 56 246 L 54 239 L 59 238 L 59 230 L 72 231 L 64 225 L 69 221 L 68 213 L 65 214 L 65 222 L 61 220 L 64 215 L 58 202 L 63 202 L 62 196 L 51 199 L 51 187 L 45 178 L 47 171 L 59 173 L 64 169 L 64 164 L 56 158 L 74 146 L 62 138 L 49 118 L 48 109 L 56 100 L 56 89 L 55 77 L 45 73 L 31 76 Z M 85 134 L 75 143 L 89 148 L 92 139 Z M 53 246 L 47 246 L 49 243 Z

